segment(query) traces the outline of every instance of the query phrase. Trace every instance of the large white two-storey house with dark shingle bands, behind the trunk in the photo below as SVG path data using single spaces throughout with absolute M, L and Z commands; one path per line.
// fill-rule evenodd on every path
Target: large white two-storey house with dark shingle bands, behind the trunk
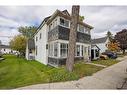
M 52 66 L 66 63 L 71 16 L 67 10 L 56 10 L 45 18 L 34 35 L 35 60 Z M 91 58 L 91 33 L 93 27 L 78 21 L 75 60 Z

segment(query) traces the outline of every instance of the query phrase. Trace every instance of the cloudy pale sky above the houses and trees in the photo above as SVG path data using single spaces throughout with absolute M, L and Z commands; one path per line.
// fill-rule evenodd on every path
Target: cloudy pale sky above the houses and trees
M 38 26 L 56 9 L 71 12 L 71 6 L 0 6 L 0 36 L 19 34 L 19 26 Z M 94 27 L 92 38 L 103 37 L 108 30 L 115 34 L 127 28 L 127 6 L 80 6 L 80 15 Z M 8 44 L 10 39 L 0 37 L 3 44 Z

